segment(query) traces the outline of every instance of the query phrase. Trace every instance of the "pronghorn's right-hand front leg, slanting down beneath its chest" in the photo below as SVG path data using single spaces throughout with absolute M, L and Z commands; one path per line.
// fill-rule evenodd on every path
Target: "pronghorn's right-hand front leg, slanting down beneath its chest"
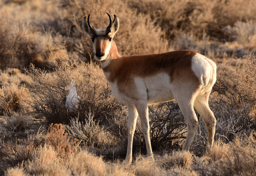
M 147 147 L 147 156 L 154 161 L 153 152 L 151 148 L 150 142 L 150 126 L 149 126 L 149 118 L 148 118 L 148 107 L 146 104 L 138 104 L 136 106 L 138 110 L 138 115 L 141 120 L 141 129 L 145 138 L 146 147 Z

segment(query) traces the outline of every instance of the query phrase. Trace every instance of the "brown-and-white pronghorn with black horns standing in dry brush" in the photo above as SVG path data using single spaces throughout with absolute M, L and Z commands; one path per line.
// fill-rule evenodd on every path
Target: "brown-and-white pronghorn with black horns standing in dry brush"
M 121 56 L 112 40 L 119 28 L 118 16 L 114 15 L 112 21 L 108 14 L 109 26 L 104 30 L 97 30 L 91 26 L 90 15 L 87 21 L 87 17 L 83 17 L 82 27 L 93 42 L 94 59 L 100 61 L 115 98 L 128 107 L 126 163 L 132 162 L 132 139 L 138 115 L 147 155 L 153 160 L 147 105 L 174 99 L 178 102 L 188 127 L 182 150 L 189 150 L 197 130 L 198 120 L 194 107 L 207 126 L 207 150 L 211 150 L 216 119 L 209 108 L 208 99 L 216 81 L 216 64 L 189 50 Z

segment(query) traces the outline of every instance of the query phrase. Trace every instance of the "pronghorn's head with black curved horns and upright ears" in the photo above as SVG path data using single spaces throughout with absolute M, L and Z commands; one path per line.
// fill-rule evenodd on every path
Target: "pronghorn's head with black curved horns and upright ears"
M 108 14 L 108 13 L 106 13 Z M 86 21 L 86 16 L 82 19 L 82 27 L 85 32 L 91 37 L 93 42 L 95 56 L 94 59 L 97 61 L 103 61 L 108 58 L 109 51 L 111 48 L 111 41 L 114 38 L 115 33 L 119 28 L 119 19 L 118 16 L 115 16 L 112 21 L 111 16 L 109 15 L 109 26 L 105 30 L 96 30 L 94 26 L 91 26 L 90 15 Z

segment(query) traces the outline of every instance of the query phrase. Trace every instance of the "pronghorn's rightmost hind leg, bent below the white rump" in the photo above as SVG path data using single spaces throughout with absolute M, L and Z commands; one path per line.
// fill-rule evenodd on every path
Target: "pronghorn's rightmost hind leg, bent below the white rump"
M 197 112 L 202 116 L 203 121 L 207 127 L 207 151 L 212 150 L 216 126 L 216 118 L 214 117 L 214 114 L 212 113 L 212 110 L 210 110 L 208 104 L 209 92 L 206 92 L 206 95 L 198 95 L 194 101 L 194 107 L 196 108 Z

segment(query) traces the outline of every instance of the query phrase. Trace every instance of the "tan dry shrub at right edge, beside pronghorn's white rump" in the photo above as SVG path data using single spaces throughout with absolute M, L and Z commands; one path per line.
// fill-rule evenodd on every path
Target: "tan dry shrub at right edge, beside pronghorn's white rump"
M 244 118 L 244 123 L 247 124 L 247 127 L 239 124 L 243 129 L 255 129 L 256 57 L 246 55 L 241 60 L 237 60 L 234 66 L 219 66 L 217 72 L 217 81 L 213 87 L 213 92 L 218 92 L 215 101 L 220 104 L 219 107 L 230 107 L 231 111 L 238 111 L 238 114 L 242 115 L 241 118 Z M 215 105 L 218 106 L 217 104 Z M 215 108 L 218 109 L 218 107 Z M 219 113 L 221 114 L 222 111 Z

